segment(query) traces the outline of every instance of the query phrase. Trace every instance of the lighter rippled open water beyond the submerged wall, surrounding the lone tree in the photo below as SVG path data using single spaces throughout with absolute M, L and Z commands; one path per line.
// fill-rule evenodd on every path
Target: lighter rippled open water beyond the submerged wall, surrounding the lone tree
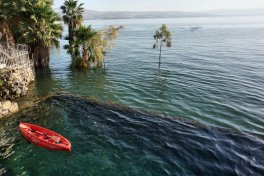
M 96 29 L 125 26 L 106 57 L 106 70 L 72 71 L 69 55 L 54 50 L 52 79 L 38 90 L 61 89 L 263 134 L 263 21 L 264 17 L 86 21 Z M 172 32 L 173 46 L 164 48 L 158 69 L 153 34 L 162 23 Z

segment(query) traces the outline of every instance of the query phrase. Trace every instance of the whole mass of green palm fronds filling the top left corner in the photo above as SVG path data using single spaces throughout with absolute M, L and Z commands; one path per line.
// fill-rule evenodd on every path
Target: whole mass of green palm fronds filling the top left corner
M 1 0 L 1 16 L 6 16 L 17 42 L 35 46 L 58 46 L 62 25 L 53 11 L 53 0 Z

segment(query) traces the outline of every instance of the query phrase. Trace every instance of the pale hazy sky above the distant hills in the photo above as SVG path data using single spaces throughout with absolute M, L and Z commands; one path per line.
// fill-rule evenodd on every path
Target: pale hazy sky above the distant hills
M 54 0 L 58 8 L 64 0 Z M 79 0 L 86 9 L 99 11 L 208 11 L 264 8 L 264 0 Z

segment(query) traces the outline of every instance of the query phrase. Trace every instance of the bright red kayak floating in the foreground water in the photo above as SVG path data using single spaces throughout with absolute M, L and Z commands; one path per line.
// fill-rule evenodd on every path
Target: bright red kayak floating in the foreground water
M 65 137 L 46 128 L 20 122 L 19 129 L 21 134 L 33 144 L 49 150 L 71 151 L 71 143 Z

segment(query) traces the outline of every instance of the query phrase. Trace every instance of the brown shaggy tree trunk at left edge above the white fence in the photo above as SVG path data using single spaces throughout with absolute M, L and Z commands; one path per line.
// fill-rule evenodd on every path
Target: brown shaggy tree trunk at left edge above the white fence
M 2 38 L 0 38 L 1 42 L 6 42 L 8 46 L 15 43 L 14 36 L 5 20 L 0 20 L 0 32 L 2 33 Z

